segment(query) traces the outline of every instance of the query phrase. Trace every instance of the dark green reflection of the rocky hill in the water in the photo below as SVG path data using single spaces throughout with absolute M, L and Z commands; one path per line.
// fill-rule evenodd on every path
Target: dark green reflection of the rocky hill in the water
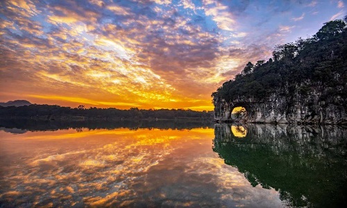
M 214 127 L 214 151 L 256 186 L 273 187 L 293 207 L 347 203 L 346 128 L 246 125 L 235 137 L 228 124 Z

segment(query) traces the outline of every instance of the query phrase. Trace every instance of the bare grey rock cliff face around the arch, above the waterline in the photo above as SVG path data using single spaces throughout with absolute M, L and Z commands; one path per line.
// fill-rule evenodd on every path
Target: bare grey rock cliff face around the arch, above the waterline
M 241 96 L 225 101 L 214 96 L 214 120 L 218 123 L 232 121 L 231 112 L 234 107 L 246 108 L 246 123 L 325 123 L 347 124 L 346 101 L 340 96 L 324 99 L 332 89 L 310 89 L 303 94 L 300 87 L 289 94 L 287 89 L 264 98 Z

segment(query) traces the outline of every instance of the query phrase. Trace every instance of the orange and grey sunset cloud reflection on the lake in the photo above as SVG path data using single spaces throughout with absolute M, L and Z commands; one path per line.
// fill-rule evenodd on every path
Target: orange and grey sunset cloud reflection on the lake
M 279 207 L 211 150 L 213 129 L 0 132 L 9 207 Z

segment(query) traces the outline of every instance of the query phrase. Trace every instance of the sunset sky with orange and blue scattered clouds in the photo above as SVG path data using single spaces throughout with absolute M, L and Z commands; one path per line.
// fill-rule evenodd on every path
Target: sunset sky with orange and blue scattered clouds
M 0 101 L 213 110 L 212 92 L 346 1 L 0 1 Z

